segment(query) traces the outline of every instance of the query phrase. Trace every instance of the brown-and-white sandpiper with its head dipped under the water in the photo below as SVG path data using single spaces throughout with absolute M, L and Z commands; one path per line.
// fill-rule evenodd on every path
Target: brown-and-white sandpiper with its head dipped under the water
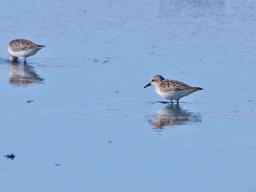
M 45 45 L 37 45 L 26 39 L 14 39 L 8 45 L 9 59 L 17 61 L 18 58 L 23 58 L 26 64 L 26 58 L 36 54 L 42 47 Z

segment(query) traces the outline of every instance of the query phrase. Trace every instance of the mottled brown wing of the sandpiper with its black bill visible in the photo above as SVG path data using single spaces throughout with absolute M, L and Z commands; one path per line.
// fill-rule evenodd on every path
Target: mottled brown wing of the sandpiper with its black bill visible
M 190 91 L 193 87 L 187 85 L 184 82 L 176 81 L 176 80 L 162 80 L 159 83 L 159 89 L 162 92 L 181 92 L 181 91 Z

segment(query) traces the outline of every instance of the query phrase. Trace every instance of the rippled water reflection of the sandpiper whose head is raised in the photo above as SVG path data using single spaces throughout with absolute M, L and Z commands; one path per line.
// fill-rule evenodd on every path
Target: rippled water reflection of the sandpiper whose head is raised
M 153 128 L 164 128 L 166 126 L 201 122 L 201 115 L 199 113 L 183 110 L 178 105 L 168 104 L 164 109 L 158 110 L 154 118 L 149 120 L 149 122 Z

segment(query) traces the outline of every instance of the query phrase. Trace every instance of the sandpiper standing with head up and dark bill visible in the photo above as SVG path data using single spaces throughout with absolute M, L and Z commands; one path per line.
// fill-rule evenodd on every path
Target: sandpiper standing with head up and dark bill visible
M 164 77 L 157 74 L 151 78 L 151 82 L 144 87 L 148 87 L 150 85 L 156 85 L 156 92 L 159 96 L 170 100 L 170 103 L 173 104 L 173 100 L 177 101 L 184 96 L 188 96 L 195 91 L 203 90 L 203 88 L 195 88 L 191 87 L 184 82 L 180 82 L 177 80 L 165 80 Z

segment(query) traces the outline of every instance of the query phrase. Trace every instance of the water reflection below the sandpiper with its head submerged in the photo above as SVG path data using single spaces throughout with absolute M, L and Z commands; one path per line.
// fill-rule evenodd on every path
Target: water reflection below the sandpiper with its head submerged
M 33 66 L 18 64 L 12 61 L 9 63 L 9 82 L 13 85 L 29 85 L 34 82 L 42 82 L 43 79 L 34 71 Z

